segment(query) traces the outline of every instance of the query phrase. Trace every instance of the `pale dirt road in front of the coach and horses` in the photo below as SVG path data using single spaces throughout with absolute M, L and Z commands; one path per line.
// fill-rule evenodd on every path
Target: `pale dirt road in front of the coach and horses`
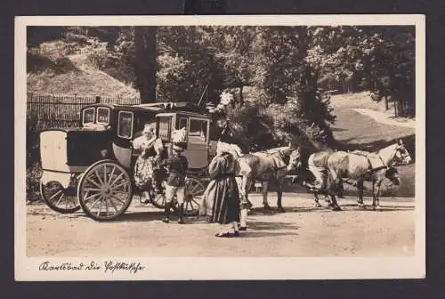
M 365 198 L 369 201 L 370 198 Z M 94 222 L 83 214 L 57 214 L 27 206 L 28 256 L 409 256 L 414 254 L 413 198 L 382 198 L 381 211 L 340 199 L 341 212 L 315 208 L 309 194 L 285 193 L 287 213 L 263 213 L 253 194 L 249 230 L 215 238 L 216 224 L 188 219 L 160 222 L 162 211 L 134 204 L 118 221 Z M 270 195 L 271 206 L 276 198 Z

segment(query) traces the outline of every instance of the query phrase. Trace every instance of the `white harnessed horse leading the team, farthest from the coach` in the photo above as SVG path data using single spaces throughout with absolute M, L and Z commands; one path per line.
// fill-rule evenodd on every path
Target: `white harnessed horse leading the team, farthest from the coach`
M 384 178 L 388 178 L 393 184 L 399 184 L 399 174 L 395 166 L 409 164 L 411 160 L 408 150 L 400 140 L 368 155 L 363 155 L 362 152 L 336 151 L 329 155 L 327 166 L 328 173 L 335 184 L 342 183 L 343 179 L 358 182 L 360 206 L 364 206 L 363 182 L 372 182 L 372 206 L 373 209 L 378 209 L 380 208 L 380 186 Z M 331 200 L 333 206 L 338 206 L 335 194 L 334 196 L 331 194 Z

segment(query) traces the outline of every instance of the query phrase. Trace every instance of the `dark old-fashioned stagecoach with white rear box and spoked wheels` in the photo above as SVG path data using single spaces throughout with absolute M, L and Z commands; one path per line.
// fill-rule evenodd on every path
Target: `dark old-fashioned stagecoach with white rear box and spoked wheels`
M 215 142 L 210 141 L 211 117 L 188 102 L 91 104 L 81 110 L 76 128 L 41 132 L 40 186 L 47 206 L 65 214 L 82 208 L 97 221 L 113 220 L 124 214 L 134 195 L 142 192 L 134 184 L 138 154 L 132 141 L 142 134 L 146 124 L 153 125 L 166 147 L 173 130 L 186 128 L 183 155 L 189 160 L 190 170 L 184 215 L 198 214 L 198 198 L 206 188 L 206 169 L 215 155 Z M 164 192 L 149 193 L 151 204 L 164 208 Z

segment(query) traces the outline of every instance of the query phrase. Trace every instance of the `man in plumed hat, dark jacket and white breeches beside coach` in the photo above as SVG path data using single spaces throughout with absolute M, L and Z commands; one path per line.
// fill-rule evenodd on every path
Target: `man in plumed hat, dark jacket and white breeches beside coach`
M 172 154 L 166 159 L 165 163 L 168 167 L 168 177 L 166 180 L 166 208 L 163 222 L 170 222 L 170 208 L 172 207 L 172 199 L 176 196 L 178 201 L 178 223 L 183 223 L 184 212 L 184 189 L 189 162 L 187 158 L 182 156 L 183 148 L 178 143 L 174 143 Z

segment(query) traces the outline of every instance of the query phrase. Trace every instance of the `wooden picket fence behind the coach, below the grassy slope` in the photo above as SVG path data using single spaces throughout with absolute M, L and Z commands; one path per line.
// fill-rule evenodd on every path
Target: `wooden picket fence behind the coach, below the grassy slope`
M 86 105 L 102 102 L 116 104 L 139 104 L 141 99 L 115 98 L 115 97 L 78 97 L 78 96 L 54 96 L 36 95 L 28 93 L 27 116 L 38 122 L 39 126 L 70 127 L 79 125 L 80 110 Z

